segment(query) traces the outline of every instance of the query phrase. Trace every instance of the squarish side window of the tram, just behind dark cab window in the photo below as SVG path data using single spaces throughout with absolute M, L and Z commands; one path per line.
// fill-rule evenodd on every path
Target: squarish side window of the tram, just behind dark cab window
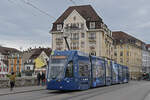
M 79 62 L 79 75 L 89 76 L 89 66 L 87 63 Z

